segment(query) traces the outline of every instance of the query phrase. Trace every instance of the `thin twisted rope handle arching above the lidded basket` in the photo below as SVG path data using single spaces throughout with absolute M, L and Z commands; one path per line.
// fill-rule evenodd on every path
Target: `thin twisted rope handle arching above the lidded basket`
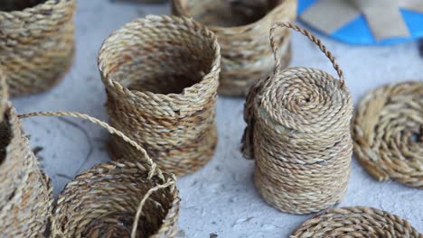
M 334 66 L 334 69 L 336 70 L 336 73 L 339 76 L 339 80 L 341 81 L 341 86 L 343 87 L 345 85 L 345 79 L 343 78 L 343 70 L 339 67 L 338 62 L 334 58 L 334 55 L 331 53 L 331 51 L 327 50 L 324 44 L 322 43 L 322 41 L 320 41 L 314 34 L 312 34 L 311 32 L 308 32 L 304 28 L 301 28 L 294 23 L 277 22 L 277 23 L 273 23 L 272 27 L 270 28 L 270 46 L 272 47 L 273 55 L 275 56 L 275 60 L 276 60 L 275 73 L 281 67 L 280 58 L 279 58 L 279 55 L 277 54 L 278 47 L 275 40 L 275 30 L 277 29 L 277 27 L 286 27 L 296 32 L 300 32 L 303 35 L 305 35 L 305 37 L 307 37 L 310 41 L 315 42 L 315 44 L 319 47 L 319 49 L 322 50 L 322 52 L 324 52 L 324 55 L 332 62 L 332 65 Z

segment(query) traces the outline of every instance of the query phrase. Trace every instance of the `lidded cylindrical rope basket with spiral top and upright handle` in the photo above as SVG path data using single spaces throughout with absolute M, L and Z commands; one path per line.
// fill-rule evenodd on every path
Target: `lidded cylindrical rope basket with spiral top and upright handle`
M 279 26 L 315 42 L 340 79 L 319 69 L 282 69 L 274 35 Z M 270 41 L 275 72 L 249 92 L 242 151 L 256 160 L 256 187 L 268 204 L 287 213 L 318 212 L 339 202 L 347 188 L 352 98 L 343 71 L 314 35 L 291 23 L 275 23 Z

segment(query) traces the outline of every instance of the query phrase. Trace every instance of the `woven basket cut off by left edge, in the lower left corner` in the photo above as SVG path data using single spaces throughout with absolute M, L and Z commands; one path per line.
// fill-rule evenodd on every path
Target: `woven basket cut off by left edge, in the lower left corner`
M 50 179 L 38 166 L 0 72 L 0 237 L 41 237 L 52 214 Z

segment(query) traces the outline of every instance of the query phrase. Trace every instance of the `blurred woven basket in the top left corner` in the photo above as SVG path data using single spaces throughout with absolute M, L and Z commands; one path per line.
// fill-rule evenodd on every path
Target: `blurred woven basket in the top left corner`
M 71 66 L 75 0 L 0 3 L 0 62 L 12 96 L 53 87 Z

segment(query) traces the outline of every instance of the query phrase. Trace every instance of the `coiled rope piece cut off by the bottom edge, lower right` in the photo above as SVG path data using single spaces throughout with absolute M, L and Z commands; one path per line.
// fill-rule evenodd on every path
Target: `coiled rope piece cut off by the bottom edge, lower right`
M 334 208 L 302 224 L 290 238 L 362 237 L 423 238 L 423 234 L 401 219 L 371 207 Z

